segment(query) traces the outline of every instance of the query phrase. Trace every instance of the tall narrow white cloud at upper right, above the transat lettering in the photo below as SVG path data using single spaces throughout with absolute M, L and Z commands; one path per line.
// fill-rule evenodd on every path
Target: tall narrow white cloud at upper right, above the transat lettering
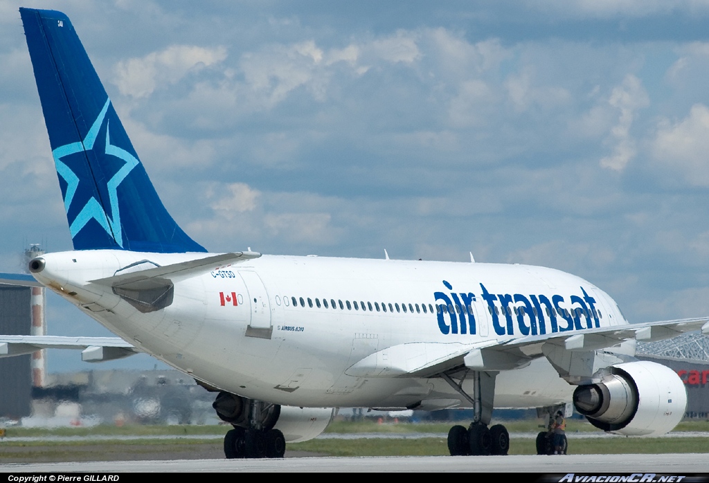
M 608 144 L 613 145 L 613 154 L 603 157 L 601 166 L 613 171 L 623 171 L 637 152 L 635 140 L 630 135 L 630 127 L 637 110 L 649 105 L 649 98 L 640 79 L 627 74 L 623 83 L 613 89 L 608 104 L 617 111 L 618 123 L 613 126 L 606 139 Z

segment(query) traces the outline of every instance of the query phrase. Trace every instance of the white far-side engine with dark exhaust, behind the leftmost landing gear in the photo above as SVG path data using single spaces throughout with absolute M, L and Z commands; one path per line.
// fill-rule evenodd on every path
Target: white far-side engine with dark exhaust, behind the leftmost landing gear
M 333 420 L 337 409 L 327 407 L 293 407 L 254 401 L 230 392 L 220 392 L 212 407 L 223 421 L 249 428 L 253 407 L 263 429 L 278 429 L 286 443 L 299 443 L 316 438 Z

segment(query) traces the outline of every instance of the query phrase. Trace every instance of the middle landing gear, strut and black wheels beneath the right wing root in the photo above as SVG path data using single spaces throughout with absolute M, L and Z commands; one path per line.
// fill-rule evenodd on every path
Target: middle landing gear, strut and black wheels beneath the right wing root
M 460 382 L 455 382 L 450 375 L 441 377 L 473 404 L 474 419 L 468 428 L 453 426 L 448 431 L 448 450 L 451 456 L 467 455 L 506 455 L 510 450 L 510 434 L 502 424 L 488 428 L 492 418 L 495 397 L 495 377 L 497 373 L 472 371 L 474 392 L 470 397 L 462 385 L 468 373 L 464 373 Z

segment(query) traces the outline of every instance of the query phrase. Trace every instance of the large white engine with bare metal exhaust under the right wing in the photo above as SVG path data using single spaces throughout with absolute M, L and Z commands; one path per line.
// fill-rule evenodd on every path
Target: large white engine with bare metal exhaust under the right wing
M 601 382 L 576 387 L 574 407 L 603 431 L 659 436 L 679 424 L 687 392 L 674 370 L 643 360 L 611 365 Z

